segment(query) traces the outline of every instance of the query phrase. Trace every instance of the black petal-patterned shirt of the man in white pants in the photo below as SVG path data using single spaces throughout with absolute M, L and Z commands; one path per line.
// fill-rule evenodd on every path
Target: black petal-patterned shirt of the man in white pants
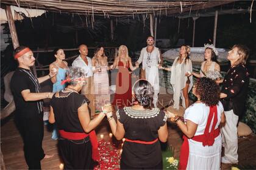
M 233 66 L 226 73 L 221 92 L 227 97 L 221 100 L 224 111 L 233 109 L 240 118 L 245 112 L 245 102 L 249 86 L 249 72 L 243 64 Z

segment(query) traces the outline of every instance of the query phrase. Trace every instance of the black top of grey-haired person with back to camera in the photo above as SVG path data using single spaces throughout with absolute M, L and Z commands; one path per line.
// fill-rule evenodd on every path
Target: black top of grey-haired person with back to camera
M 54 118 L 58 129 L 66 132 L 84 132 L 77 110 L 82 104 L 89 104 L 88 99 L 76 92 L 60 91 L 60 97 L 55 97 L 55 95 L 53 95 L 50 104 L 54 110 Z

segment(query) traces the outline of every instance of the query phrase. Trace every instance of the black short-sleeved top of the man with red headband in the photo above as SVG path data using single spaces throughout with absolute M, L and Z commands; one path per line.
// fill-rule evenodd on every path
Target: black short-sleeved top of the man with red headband
M 43 112 L 43 100 L 25 101 L 21 95 L 21 92 L 27 89 L 29 89 L 31 93 L 41 92 L 38 80 L 30 70 L 18 67 L 13 73 L 10 88 L 17 110 L 16 114 L 28 118 Z

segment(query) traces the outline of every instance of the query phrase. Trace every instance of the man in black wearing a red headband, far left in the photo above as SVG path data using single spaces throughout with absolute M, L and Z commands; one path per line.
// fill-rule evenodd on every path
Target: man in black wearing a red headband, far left
M 30 70 L 34 66 L 33 52 L 24 46 L 14 50 L 18 68 L 13 74 L 10 87 L 15 101 L 15 121 L 24 142 L 24 155 L 29 169 L 41 169 L 40 161 L 53 155 L 44 154 L 43 141 L 43 99 L 52 98 L 53 93 L 41 93 L 40 83 L 56 75 L 52 70 L 49 75 L 36 78 Z

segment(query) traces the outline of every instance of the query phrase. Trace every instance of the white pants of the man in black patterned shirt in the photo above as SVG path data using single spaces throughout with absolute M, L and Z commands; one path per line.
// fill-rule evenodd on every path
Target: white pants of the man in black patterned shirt
M 233 110 L 224 112 L 226 123 L 221 127 L 222 143 L 224 143 L 224 157 L 232 163 L 238 163 L 238 138 L 237 138 L 237 123 L 238 116 L 233 113 Z

